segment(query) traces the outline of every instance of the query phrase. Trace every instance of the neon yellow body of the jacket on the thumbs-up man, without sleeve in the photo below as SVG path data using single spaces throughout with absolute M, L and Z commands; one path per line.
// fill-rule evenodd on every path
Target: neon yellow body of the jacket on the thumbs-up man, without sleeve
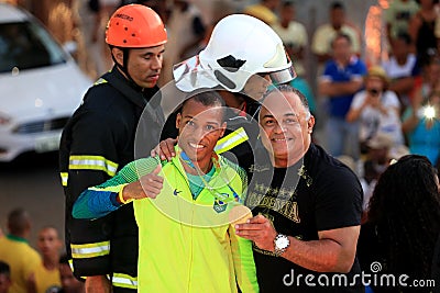
M 157 198 L 134 201 L 140 292 L 237 292 L 237 283 L 242 292 L 258 291 L 252 244 L 231 224 L 230 211 L 239 204 L 233 193 L 242 194 L 245 185 L 243 171 L 224 158 L 213 160 L 215 174 L 196 200 L 174 158 L 160 173 L 165 180 Z M 219 200 L 226 195 L 232 201 Z

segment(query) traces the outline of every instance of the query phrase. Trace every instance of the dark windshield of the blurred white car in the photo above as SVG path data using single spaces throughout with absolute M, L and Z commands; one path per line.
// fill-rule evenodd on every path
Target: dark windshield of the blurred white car
M 65 61 L 65 53 L 40 24 L 0 23 L 0 72 Z

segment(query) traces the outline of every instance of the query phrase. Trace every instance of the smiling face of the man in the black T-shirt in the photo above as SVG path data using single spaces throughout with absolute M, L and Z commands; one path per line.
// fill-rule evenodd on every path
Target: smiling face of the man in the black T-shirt
M 274 166 L 286 168 L 307 151 L 315 117 L 297 93 L 273 91 L 263 102 L 260 125 L 262 143 L 272 154 Z

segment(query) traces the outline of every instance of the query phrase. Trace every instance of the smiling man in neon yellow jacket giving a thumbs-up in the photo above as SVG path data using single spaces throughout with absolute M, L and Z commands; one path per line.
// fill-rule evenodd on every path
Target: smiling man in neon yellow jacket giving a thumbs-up
M 239 285 L 243 293 L 258 291 L 252 243 L 234 230 L 252 216 L 242 205 L 248 179 L 213 153 L 226 129 L 223 106 L 215 91 L 187 99 L 176 120 L 179 140 L 172 161 L 135 160 L 76 201 L 74 217 L 97 218 L 135 200 L 139 278 L 127 288 L 238 292 Z

